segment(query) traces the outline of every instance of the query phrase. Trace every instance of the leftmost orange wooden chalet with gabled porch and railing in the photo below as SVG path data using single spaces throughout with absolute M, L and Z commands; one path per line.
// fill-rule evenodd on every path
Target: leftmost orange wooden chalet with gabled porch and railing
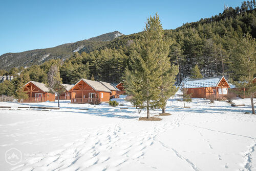
M 24 85 L 24 90 L 28 93 L 29 98 L 20 100 L 21 103 L 55 101 L 55 94 L 49 93 L 49 89 L 44 83 L 30 81 Z

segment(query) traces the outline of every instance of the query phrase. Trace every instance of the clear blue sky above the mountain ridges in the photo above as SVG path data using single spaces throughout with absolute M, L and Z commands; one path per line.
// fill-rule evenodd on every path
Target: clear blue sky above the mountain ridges
M 76 42 L 104 33 L 143 30 L 158 12 L 163 29 L 241 6 L 242 0 L 28 1 L 0 0 L 0 55 Z

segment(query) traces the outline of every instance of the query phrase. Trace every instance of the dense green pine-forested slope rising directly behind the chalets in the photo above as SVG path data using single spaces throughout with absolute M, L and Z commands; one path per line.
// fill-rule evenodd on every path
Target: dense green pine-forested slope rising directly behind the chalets
M 256 37 L 255 1 L 244 2 L 241 7 L 230 7 L 219 15 L 186 23 L 175 30 L 165 30 L 165 41 L 170 47 L 170 60 L 179 65 L 177 83 L 189 76 L 191 68 L 195 65 L 199 66 L 205 77 L 229 75 L 231 72 L 229 64 L 235 60 L 231 58 L 230 51 L 247 32 L 253 38 Z M 132 44 L 140 41 L 141 33 L 123 35 L 112 41 L 105 41 L 108 38 L 104 36 L 104 41 L 99 42 L 95 37 L 93 39 L 95 42 L 86 40 L 84 42 L 87 45 L 80 49 L 77 47 L 82 44 L 82 41 L 76 42 L 76 45 L 73 43 L 57 46 L 61 54 L 65 54 L 61 52 L 62 49 L 66 47 L 71 49 L 69 53 L 65 51 L 67 52 L 65 58 L 68 58 L 66 61 L 50 60 L 25 70 L 11 69 L 9 74 L 15 75 L 15 72 L 23 70 L 22 73 L 27 74 L 27 78 L 33 81 L 47 82 L 49 67 L 57 64 L 60 67 L 63 83 L 76 83 L 80 78 L 118 83 L 122 81 L 125 67 L 130 64 L 129 55 L 133 51 Z M 75 50 L 77 52 L 73 52 Z M 46 52 L 42 54 L 45 55 Z M 41 56 L 38 60 L 41 60 Z

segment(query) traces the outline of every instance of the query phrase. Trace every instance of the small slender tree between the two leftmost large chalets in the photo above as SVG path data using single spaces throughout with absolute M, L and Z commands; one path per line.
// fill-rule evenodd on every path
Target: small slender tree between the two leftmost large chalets
M 57 95 L 59 107 L 59 96 L 66 91 L 66 87 L 62 85 L 62 79 L 60 78 L 59 68 L 57 65 L 51 66 L 48 72 L 48 83 L 46 86 L 49 88 L 50 93 Z

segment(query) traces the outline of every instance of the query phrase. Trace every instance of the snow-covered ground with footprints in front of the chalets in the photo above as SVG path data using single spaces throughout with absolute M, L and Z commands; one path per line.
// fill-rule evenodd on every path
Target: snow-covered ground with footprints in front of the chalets
M 161 121 L 139 121 L 145 111 L 116 100 L 124 106 L 61 101 L 60 110 L 17 110 L 57 102 L 1 102 L 12 110 L 0 110 L 0 170 L 256 170 L 249 99 L 234 101 L 242 107 L 194 99 L 186 104 L 190 109 L 169 100 L 172 115 Z M 11 148 L 22 152 L 14 166 L 5 161 Z

